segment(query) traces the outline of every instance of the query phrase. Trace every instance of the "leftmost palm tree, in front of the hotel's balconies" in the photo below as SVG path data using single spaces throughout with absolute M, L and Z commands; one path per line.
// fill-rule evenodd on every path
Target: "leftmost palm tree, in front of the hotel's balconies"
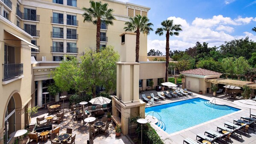
M 101 20 L 105 22 L 106 25 L 113 25 L 113 20 L 116 18 L 112 15 L 113 9 L 107 9 L 107 3 L 102 4 L 98 1 L 90 0 L 90 8 L 83 7 L 83 22 L 92 22 L 97 25 L 96 32 L 96 52 L 100 51 L 100 36 L 101 36 Z M 93 20 L 92 18 L 96 18 Z

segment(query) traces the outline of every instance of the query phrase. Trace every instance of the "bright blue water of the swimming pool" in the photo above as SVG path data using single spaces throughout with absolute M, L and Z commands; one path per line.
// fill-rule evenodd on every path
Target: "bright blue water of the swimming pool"
M 161 115 L 161 121 L 156 124 L 170 134 L 239 110 L 226 105 L 211 104 L 202 98 L 193 98 L 148 107 L 145 109 L 145 113 L 152 115 L 155 112 L 154 117 L 158 119 Z

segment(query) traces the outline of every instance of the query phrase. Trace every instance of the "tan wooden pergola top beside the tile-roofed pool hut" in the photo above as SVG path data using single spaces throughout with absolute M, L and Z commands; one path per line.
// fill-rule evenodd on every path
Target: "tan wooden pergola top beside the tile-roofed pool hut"
M 223 84 L 223 85 L 234 85 L 239 87 L 243 87 L 244 85 L 247 85 L 251 89 L 256 89 L 255 82 L 247 82 L 247 81 L 234 80 L 234 79 L 205 79 L 205 82 L 211 82 L 214 84 Z

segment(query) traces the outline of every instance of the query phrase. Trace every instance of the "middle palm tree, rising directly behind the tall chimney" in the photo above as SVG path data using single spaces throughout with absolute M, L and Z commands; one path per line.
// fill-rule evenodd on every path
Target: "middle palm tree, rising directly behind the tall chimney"
M 146 16 L 136 15 L 134 18 L 129 18 L 130 21 L 125 22 L 125 32 L 135 30 L 136 33 L 136 62 L 139 62 L 139 51 L 140 51 L 140 32 L 148 35 L 152 31 L 153 24 L 149 23 L 149 19 Z

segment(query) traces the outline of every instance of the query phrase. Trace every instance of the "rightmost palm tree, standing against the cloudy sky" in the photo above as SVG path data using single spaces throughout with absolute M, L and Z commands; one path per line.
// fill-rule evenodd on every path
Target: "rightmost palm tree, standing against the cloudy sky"
M 165 20 L 161 22 L 162 27 L 157 28 L 155 31 L 155 34 L 161 36 L 166 32 L 165 37 L 166 37 L 166 69 L 165 69 L 165 82 L 168 82 L 168 66 L 169 66 L 169 38 L 170 35 L 179 35 L 179 31 L 182 31 L 181 25 L 180 24 L 173 24 L 173 20 Z

